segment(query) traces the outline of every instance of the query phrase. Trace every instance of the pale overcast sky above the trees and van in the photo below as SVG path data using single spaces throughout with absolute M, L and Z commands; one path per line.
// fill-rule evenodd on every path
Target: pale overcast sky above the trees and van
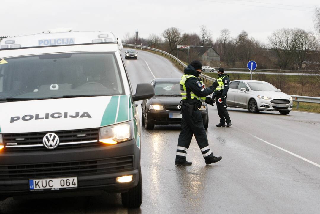
M 276 29 L 312 31 L 319 0 L 0 0 L 0 36 L 73 30 L 111 31 L 123 38 L 161 34 L 168 27 L 199 33 L 206 25 L 215 40 L 228 28 L 246 30 L 262 42 Z M 281 5 L 280 5 L 281 4 Z M 281 9 L 279 9 L 281 8 Z

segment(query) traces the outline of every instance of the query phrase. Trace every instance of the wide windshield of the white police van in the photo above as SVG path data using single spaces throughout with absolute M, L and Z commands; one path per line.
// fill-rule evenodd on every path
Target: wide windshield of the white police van
M 124 93 L 114 53 L 41 54 L 1 60 L 0 99 Z

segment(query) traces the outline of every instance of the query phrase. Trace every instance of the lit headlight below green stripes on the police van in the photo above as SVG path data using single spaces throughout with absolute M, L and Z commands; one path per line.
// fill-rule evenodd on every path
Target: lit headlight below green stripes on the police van
M 117 144 L 133 139 L 133 120 L 112 126 L 100 128 L 99 142 L 105 144 Z

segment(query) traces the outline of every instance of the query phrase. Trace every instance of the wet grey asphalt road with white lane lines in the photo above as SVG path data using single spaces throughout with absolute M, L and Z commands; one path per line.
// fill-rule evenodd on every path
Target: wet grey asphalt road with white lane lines
M 139 51 L 125 60 L 131 83 L 180 77 L 172 63 Z M 151 71 L 150 71 L 151 70 Z M 138 102 L 140 104 L 141 102 Z M 141 115 L 141 108 L 139 106 Z M 180 126 L 141 129 L 143 202 L 127 210 L 120 194 L 1 202 L 3 213 L 319 213 L 320 114 L 252 114 L 230 108 L 230 128 L 216 128 L 209 106 L 209 146 L 220 162 L 205 165 L 193 138 L 187 160 L 174 165 Z M 291 153 L 290 153 L 291 152 Z

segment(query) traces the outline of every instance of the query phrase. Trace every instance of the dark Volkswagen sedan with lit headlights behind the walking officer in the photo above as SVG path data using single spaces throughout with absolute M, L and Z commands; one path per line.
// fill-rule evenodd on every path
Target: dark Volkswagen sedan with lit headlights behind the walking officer
M 181 124 L 180 78 L 157 78 L 150 84 L 155 96 L 142 101 L 142 126 L 153 129 L 155 125 Z M 205 129 L 209 124 L 207 108 L 206 103 L 200 108 Z

